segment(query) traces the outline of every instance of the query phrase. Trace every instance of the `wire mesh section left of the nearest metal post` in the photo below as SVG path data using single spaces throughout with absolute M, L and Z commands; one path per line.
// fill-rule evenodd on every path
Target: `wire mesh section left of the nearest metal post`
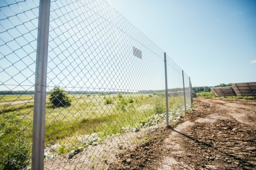
M 0 2 L 0 169 L 31 164 L 38 4 Z

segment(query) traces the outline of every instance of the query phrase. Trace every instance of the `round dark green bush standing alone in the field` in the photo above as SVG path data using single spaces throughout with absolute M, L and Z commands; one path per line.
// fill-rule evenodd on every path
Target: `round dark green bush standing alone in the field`
M 54 107 L 67 107 L 71 105 L 71 99 L 67 96 L 65 90 L 60 87 L 55 87 L 49 92 L 49 100 Z

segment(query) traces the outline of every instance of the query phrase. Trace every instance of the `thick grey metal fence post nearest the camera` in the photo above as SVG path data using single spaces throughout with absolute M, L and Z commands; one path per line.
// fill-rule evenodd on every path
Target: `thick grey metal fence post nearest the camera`
M 32 169 L 44 169 L 45 100 L 51 0 L 40 0 L 35 66 Z

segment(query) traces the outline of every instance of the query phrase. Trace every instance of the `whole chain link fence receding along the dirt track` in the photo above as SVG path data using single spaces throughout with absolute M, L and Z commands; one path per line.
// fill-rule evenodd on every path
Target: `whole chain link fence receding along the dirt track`
M 45 3 L 0 2 L 0 169 L 107 168 L 191 107 L 189 76 L 108 2 L 51 1 L 41 44 Z

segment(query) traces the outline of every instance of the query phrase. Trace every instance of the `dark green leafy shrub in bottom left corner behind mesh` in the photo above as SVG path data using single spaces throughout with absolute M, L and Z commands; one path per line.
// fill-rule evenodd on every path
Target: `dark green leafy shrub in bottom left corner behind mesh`
M 5 146 L 1 153 L 0 169 L 24 169 L 30 164 L 30 146 L 19 139 L 14 146 Z

